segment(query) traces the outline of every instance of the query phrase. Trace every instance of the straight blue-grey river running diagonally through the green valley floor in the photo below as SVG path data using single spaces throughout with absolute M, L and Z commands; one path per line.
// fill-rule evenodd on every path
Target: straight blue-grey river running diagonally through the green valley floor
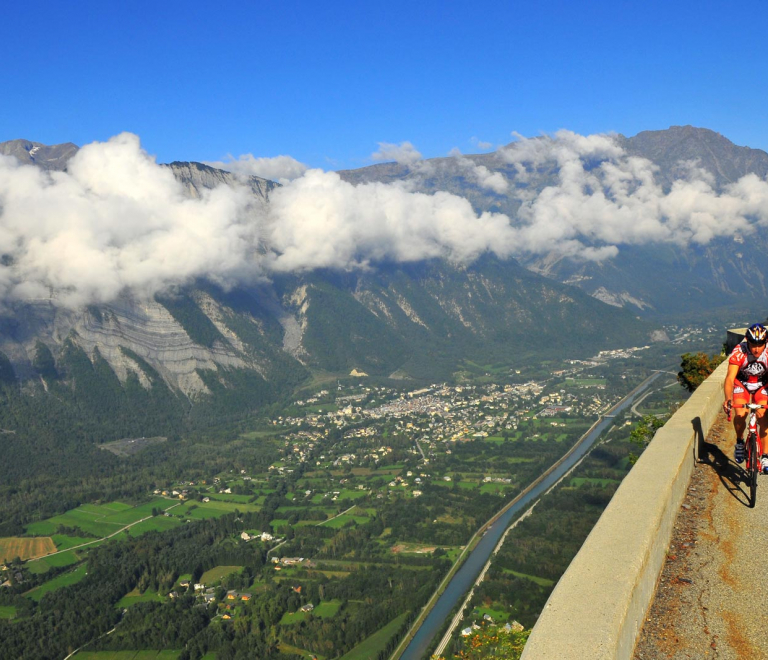
M 403 651 L 401 660 L 422 660 L 427 652 L 432 638 L 443 627 L 451 610 L 455 607 L 459 599 L 474 584 L 480 571 L 483 570 L 485 562 L 491 556 L 493 549 L 501 539 L 502 534 L 510 523 L 542 493 L 557 482 L 568 470 L 570 470 L 595 443 L 600 434 L 613 424 L 613 415 L 620 413 L 627 406 L 631 405 L 638 396 L 650 387 L 661 374 L 656 373 L 646 379 L 639 387 L 630 392 L 621 402 L 611 410 L 610 417 L 604 417 L 595 427 L 585 435 L 573 452 L 552 472 L 550 472 L 540 483 L 534 486 L 528 493 L 521 497 L 513 506 L 507 509 L 499 519 L 493 523 L 485 535 L 480 539 L 474 550 L 469 554 L 462 567 L 456 572 L 445 591 L 435 603 L 432 611 L 419 627 L 418 631 Z

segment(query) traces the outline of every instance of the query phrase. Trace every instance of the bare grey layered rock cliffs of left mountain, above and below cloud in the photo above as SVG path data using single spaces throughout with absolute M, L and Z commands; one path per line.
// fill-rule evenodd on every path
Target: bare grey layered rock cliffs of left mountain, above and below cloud
M 13 156 L 21 163 L 59 171 L 66 169 L 68 160 L 77 150 L 73 144 L 49 147 L 27 140 L 0 144 L 0 153 Z M 270 191 L 278 185 L 258 177 L 238 178 L 200 163 L 175 162 L 167 167 L 193 198 L 220 185 L 246 186 L 253 196 L 253 203 L 264 208 Z M 125 295 L 108 305 L 75 311 L 45 300 L 17 305 L 12 314 L 0 318 L 0 351 L 11 359 L 19 377 L 33 378 L 38 342 L 43 342 L 57 356 L 65 341 L 70 340 L 90 356 L 98 350 L 121 381 L 133 373 L 143 386 L 149 387 L 141 365 L 131 357 L 136 355 L 156 369 L 172 389 L 190 397 L 207 392 L 200 377 L 201 370 L 265 371 L 263 359 L 260 360 L 223 322 L 223 316 L 233 312 L 223 311 L 220 303 L 203 292 L 198 292 L 195 299 L 221 335 L 221 339 L 211 346 L 195 343 L 185 328 L 157 301 Z M 279 311 L 280 318 L 290 324 L 290 314 Z

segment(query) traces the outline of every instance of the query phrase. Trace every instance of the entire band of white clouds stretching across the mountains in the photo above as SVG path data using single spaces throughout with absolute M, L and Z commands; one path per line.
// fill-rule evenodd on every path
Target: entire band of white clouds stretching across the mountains
M 410 143 L 382 143 L 380 153 L 429 165 Z M 128 133 L 83 147 L 66 173 L 0 157 L 0 302 L 75 308 L 196 278 L 228 286 L 316 268 L 468 263 L 485 252 L 602 260 L 623 245 L 704 245 L 768 225 L 768 184 L 757 176 L 718 191 L 696 163 L 684 163 L 665 190 L 653 163 L 608 135 L 520 138 L 498 152 L 506 178 L 453 157 L 481 187 L 516 198 L 516 217 L 477 213 L 462 197 L 413 192 L 413 184 L 353 185 L 289 157 L 280 172 L 294 178 L 272 191 L 266 211 L 245 186 L 190 199 Z M 252 156 L 235 162 L 265 160 L 277 167 Z

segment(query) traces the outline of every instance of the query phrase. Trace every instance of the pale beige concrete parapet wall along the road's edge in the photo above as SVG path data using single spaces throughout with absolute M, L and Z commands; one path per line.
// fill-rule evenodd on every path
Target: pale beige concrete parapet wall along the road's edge
M 699 442 L 721 410 L 727 366 L 659 429 L 619 486 L 549 597 L 522 660 L 632 657 Z

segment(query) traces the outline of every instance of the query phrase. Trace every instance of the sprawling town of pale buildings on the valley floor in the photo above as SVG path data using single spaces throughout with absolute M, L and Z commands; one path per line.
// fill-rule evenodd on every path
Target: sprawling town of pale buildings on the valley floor
M 522 432 L 521 424 L 550 418 L 550 426 L 564 426 L 563 416 L 594 419 L 620 398 L 599 383 L 591 386 L 553 387 L 568 377 L 589 377 L 593 367 L 608 360 L 627 358 L 647 347 L 602 351 L 592 360 L 570 360 L 565 369 L 540 380 L 506 385 L 433 384 L 411 392 L 370 387 L 359 383 L 352 392 L 333 395 L 322 390 L 297 404 L 315 404 L 302 416 L 278 417 L 273 425 L 293 427 L 284 433 L 283 459 L 271 466 L 278 473 L 290 472 L 294 462 L 309 461 L 315 467 L 333 469 L 354 465 L 386 465 L 393 456 L 390 437 L 408 437 L 425 464 L 429 455 L 450 451 L 450 444 L 490 436 L 512 437 Z M 340 405 L 341 404 L 341 405 Z M 321 405 L 328 411 L 315 412 Z M 342 441 L 330 446 L 332 429 L 343 432 Z M 523 427 L 528 428 L 528 427 Z M 529 429 L 530 430 L 530 429 Z M 530 437 L 536 437 L 531 433 Z M 395 452 L 396 453 L 396 452 Z M 402 451 L 400 452 L 402 454 Z

